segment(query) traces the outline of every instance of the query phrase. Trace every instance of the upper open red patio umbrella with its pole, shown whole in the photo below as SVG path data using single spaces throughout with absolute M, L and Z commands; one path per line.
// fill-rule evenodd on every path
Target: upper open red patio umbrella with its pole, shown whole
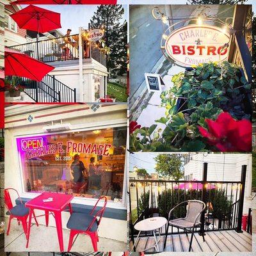
M 49 0 L 47 0 L 49 1 Z M 36 51 L 38 51 L 38 35 L 52 29 L 61 28 L 60 13 L 52 12 L 38 6 L 29 5 L 17 13 L 10 15 L 17 23 L 19 28 L 28 29 L 37 32 Z

